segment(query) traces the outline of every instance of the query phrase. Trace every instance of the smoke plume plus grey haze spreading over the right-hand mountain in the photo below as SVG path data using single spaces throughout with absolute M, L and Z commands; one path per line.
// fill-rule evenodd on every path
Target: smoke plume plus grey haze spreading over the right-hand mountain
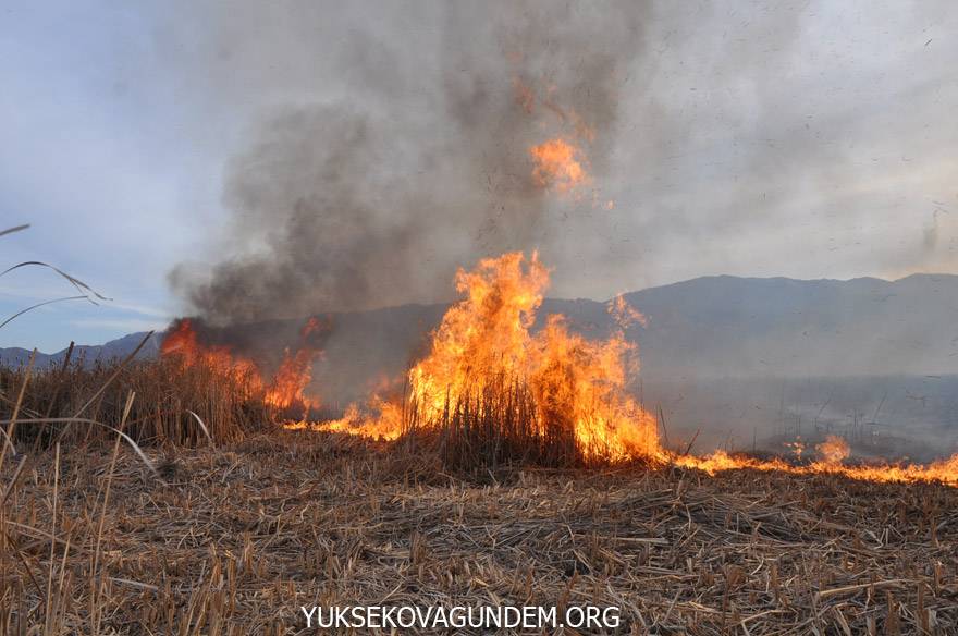
M 226 164 L 211 268 L 171 276 L 216 321 L 434 301 L 507 249 L 541 249 L 560 292 L 589 296 L 610 272 L 951 262 L 934 237 L 958 85 L 923 35 L 955 19 L 946 3 L 891 32 L 892 8 L 809 4 L 242 7 L 204 15 L 199 68 L 222 99 L 266 97 Z M 846 22 L 860 48 L 828 57 Z M 552 137 L 581 145 L 573 196 L 532 178 Z M 926 220 L 909 236 L 901 215 Z

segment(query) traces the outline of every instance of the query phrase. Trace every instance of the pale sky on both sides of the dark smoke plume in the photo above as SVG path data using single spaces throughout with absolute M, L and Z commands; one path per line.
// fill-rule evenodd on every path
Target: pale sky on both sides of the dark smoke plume
M 32 224 L 0 238 L 0 264 L 49 261 L 113 301 L 34 311 L 0 346 L 99 343 L 184 311 L 167 272 L 229 253 L 223 175 L 258 113 L 374 99 L 347 76 L 348 40 L 419 47 L 409 69 L 428 73 L 442 27 L 410 26 L 430 3 L 82 4 L 0 9 L 0 229 Z M 600 184 L 615 209 L 556 241 L 556 295 L 958 272 L 954 2 L 659 3 L 648 20 Z M 0 315 L 70 294 L 19 270 Z

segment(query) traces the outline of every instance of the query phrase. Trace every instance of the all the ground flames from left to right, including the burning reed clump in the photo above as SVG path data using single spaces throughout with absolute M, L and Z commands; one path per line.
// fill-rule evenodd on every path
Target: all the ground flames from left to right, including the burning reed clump
M 460 270 L 456 289 L 463 299 L 431 334 L 427 355 L 402 381 L 388 383 L 391 392 L 351 404 L 334 419 L 308 418 L 309 409 L 320 404 L 318 397 L 303 393 L 310 379 L 303 360 L 318 355 L 311 348 L 292 355 L 286 351 L 269 383 L 250 362 L 197 344 L 188 321 L 168 335 L 163 354 L 186 366 L 204 360 L 226 376 L 251 378 L 263 401 L 286 413 L 303 408 L 304 417 L 286 421 L 284 428 L 384 441 L 415 439 L 434 447 L 446 465 L 459 472 L 484 474 L 513 464 L 576 468 L 639 462 L 709 475 L 748 468 L 958 486 L 958 455 L 926 465 L 849 465 L 845 461 L 850 448 L 834 435 L 805 462 L 725 451 L 697 456 L 666 449 L 655 418 L 629 391 L 629 382 L 639 374 L 638 352 L 621 331 L 607 340 L 590 341 L 572 333 L 564 318 L 553 315 L 532 332 L 548 284 L 549 271 L 535 254 L 528 260 L 519 253 L 506 254 L 483 259 L 474 271 Z M 644 319 L 621 297 L 609 304 L 609 311 L 623 328 Z M 316 319 L 310 319 L 304 334 L 315 326 Z M 793 445 L 800 458 L 803 447 Z

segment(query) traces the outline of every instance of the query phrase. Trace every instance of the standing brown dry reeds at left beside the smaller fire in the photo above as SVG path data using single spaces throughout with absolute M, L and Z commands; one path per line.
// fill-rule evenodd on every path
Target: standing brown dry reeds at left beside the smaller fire
M 23 392 L 15 417 L 19 447 L 111 440 L 107 427 L 119 426 L 131 391 L 137 397 L 125 430 L 140 443 L 236 441 L 275 415 L 263 403 L 261 387 L 242 375 L 170 358 L 91 366 L 74 358 L 39 369 L 0 366 L 0 419 L 9 425 Z M 89 421 L 69 421 L 81 417 Z

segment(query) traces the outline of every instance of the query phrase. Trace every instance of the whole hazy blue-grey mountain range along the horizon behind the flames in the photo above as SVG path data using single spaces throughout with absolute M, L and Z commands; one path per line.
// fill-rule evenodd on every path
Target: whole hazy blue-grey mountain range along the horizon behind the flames
M 638 342 L 643 369 L 651 376 L 958 374 L 958 276 L 916 274 L 897 281 L 717 276 L 625 298 L 648 319 L 646 327 L 628 329 L 627 337 Z M 606 306 L 548 298 L 539 321 L 563 314 L 574 330 L 601 337 L 614 327 Z M 330 315 L 334 328 L 321 366 L 342 372 L 358 363 L 391 372 L 421 352 L 423 335 L 445 308 L 404 305 Z M 290 342 L 300 322 L 261 323 L 254 330 L 257 337 L 245 340 Z M 87 362 L 124 357 L 145 335 L 77 346 L 74 356 Z M 140 356 L 156 355 L 160 338 L 155 335 Z M 38 354 L 37 364 L 59 362 L 64 353 Z M 24 348 L 0 348 L 3 364 L 25 364 L 28 357 Z

